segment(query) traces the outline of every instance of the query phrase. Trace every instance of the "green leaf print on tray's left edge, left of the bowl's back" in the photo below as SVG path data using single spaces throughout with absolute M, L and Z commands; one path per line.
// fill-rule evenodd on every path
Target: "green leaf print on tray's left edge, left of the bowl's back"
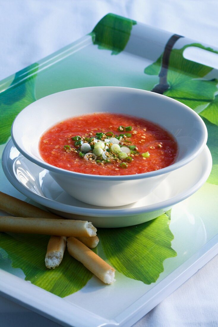
M 0 92 L 0 144 L 4 144 L 10 136 L 10 129 L 16 115 L 34 102 L 35 77 L 38 64 L 35 63 L 15 74 L 11 85 Z

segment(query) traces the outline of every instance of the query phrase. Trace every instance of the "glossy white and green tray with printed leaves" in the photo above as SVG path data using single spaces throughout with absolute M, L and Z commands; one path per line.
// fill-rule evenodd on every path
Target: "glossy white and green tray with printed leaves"
M 0 83 L 1 153 L 13 119 L 36 99 L 112 85 L 158 92 L 191 107 L 207 126 L 213 159 L 207 182 L 171 213 L 141 225 L 98 230 L 98 254 L 117 270 L 113 285 L 103 285 L 67 254 L 58 268 L 47 271 L 46 236 L 1 233 L 2 294 L 65 326 L 131 326 L 218 252 L 218 72 L 184 58 L 184 50 L 193 46 L 217 53 L 109 14 L 90 35 Z M 0 191 L 32 202 L 9 183 L 2 168 Z

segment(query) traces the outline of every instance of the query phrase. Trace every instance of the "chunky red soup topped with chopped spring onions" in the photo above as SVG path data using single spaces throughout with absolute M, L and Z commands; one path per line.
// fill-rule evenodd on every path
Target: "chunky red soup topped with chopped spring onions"
M 171 165 L 174 137 L 142 118 L 92 113 L 69 118 L 47 130 L 39 144 L 42 159 L 83 174 L 132 175 Z

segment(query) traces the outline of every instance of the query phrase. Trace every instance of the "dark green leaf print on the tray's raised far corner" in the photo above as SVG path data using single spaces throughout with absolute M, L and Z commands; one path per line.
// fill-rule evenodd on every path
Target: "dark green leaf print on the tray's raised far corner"
M 97 44 L 99 49 L 112 50 L 111 54 L 117 55 L 125 49 L 135 24 L 136 21 L 131 19 L 108 14 L 94 27 L 91 33 L 93 44 Z

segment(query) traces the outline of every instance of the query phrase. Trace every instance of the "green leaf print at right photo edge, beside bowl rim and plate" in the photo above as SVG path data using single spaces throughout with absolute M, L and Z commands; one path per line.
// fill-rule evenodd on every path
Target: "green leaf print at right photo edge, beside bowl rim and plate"
M 210 173 L 210 176 L 207 180 L 210 184 L 218 185 L 218 147 L 217 147 L 217 140 L 218 140 L 218 126 L 212 124 L 209 120 L 202 117 L 203 121 L 208 130 L 208 141 L 207 146 L 210 149 L 212 159 L 213 159 L 213 166 Z

